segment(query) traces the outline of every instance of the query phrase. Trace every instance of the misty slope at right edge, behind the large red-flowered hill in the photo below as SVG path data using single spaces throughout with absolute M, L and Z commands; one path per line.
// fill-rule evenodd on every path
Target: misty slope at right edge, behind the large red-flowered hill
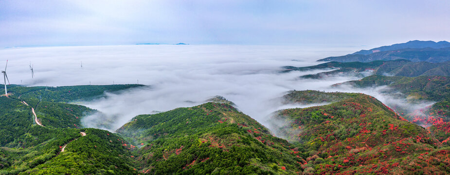
M 450 77 L 419 76 L 419 77 L 389 77 L 372 75 L 358 81 L 349 81 L 335 86 L 350 85 L 358 88 L 387 86 L 381 93 L 408 99 L 411 105 L 420 101 L 436 103 L 414 111 L 395 108 L 403 117 L 413 123 L 427 127 L 443 144 L 450 141 Z M 400 93 L 398 93 L 400 92 Z

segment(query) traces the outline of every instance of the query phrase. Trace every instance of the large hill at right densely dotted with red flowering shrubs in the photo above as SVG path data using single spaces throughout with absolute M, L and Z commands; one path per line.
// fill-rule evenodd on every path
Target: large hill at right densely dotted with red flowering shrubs
M 288 99 L 326 98 L 325 92 L 294 92 Z M 309 96 L 309 97 L 307 97 Z M 406 121 L 375 98 L 346 96 L 323 106 L 280 110 L 272 120 L 284 120 L 282 135 L 308 151 L 306 161 L 319 174 L 446 174 L 449 147 L 429 132 Z M 436 158 L 434 158 L 436 157 Z M 431 160 L 431 161 L 430 161 Z M 430 163 L 432 162 L 432 163 Z M 437 164 L 437 166 L 435 166 Z

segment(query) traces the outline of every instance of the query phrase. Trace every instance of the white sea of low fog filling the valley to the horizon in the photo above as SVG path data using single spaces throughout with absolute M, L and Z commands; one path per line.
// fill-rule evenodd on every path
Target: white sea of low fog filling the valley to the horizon
M 83 46 L 4 49 L 0 50 L 0 57 L 5 59 L 3 63 L 9 60 L 7 73 L 11 84 L 107 85 L 113 82 L 136 84 L 139 80 L 139 84 L 151 86 L 82 103 L 103 114 L 85 117 L 85 127 L 100 127 L 98 124 L 105 119 L 96 119 L 103 116 L 113 123 L 101 128 L 114 131 L 138 114 L 198 105 L 215 95 L 234 102 L 241 111 L 265 124 L 265 118 L 275 110 L 303 107 L 282 106 L 273 100 L 288 90 L 336 91 L 329 86 L 358 79 L 353 76 L 300 79 L 302 75 L 323 70 L 279 73 L 280 67 L 312 66 L 319 64 L 315 62 L 317 59 L 360 49 L 230 45 Z M 34 65 L 33 79 L 30 61 Z M 3 63 L 0 62 L 0 68 Z M 382 102 L 392 101 L 375 90 L 340 90 L 367 93 Z

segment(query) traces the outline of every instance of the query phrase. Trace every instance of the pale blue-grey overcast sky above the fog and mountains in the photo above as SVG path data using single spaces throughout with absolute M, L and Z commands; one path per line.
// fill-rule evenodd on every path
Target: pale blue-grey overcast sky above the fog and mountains
M 450 40 L 449 0 L 0 0 L 0 48 Z

